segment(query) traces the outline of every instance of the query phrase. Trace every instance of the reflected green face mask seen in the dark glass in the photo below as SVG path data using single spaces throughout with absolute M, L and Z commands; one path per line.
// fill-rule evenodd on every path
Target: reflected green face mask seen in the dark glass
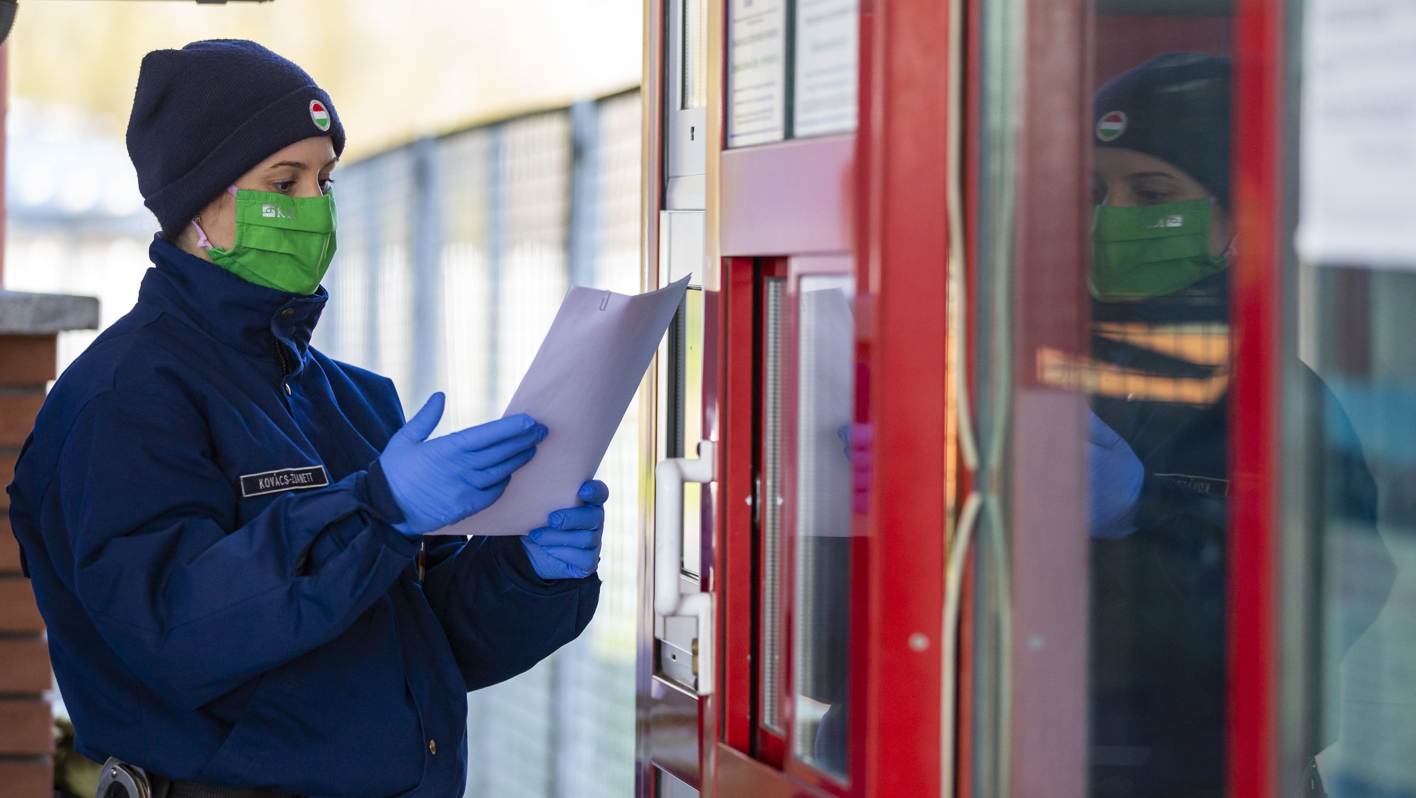
M 1133 302 L 1174 293 L 1226 265 L 1209 254 L 1209 200 L 1141 208 L 1096 206 L 1092 296 Z

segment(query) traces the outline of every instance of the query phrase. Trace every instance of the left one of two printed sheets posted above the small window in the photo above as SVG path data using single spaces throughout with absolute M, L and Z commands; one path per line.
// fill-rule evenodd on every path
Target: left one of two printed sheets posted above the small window
M 728 146 L 780 142 L 787 109 L 786 0 L 732 0 L 728 30 Z

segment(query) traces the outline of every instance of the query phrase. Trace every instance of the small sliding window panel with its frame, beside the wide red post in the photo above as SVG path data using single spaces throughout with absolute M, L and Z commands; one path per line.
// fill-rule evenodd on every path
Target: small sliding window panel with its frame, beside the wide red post
M 855 275 L 850 258 L 799 257 L 760 291 L 759 750 L 844 784 L 852 461 L 869 445 L 855 422 Z

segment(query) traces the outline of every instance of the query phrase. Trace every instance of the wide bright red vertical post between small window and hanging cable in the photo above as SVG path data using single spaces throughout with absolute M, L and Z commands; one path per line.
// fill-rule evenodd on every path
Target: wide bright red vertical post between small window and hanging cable
M 852 551 L 855 584 L 868 592 L 852 617 L 862 628 L 852 629 L 851 730 L 862 744 L 851 772 L 864 795 L 940 788 L 947 10 L 944 1 L 862 4 L 857 412 L 874 425 L 875 451 L 869 515 L 857 516 L 864 529 Z M 910 648 L 912 635 L 923 635 L 923 651 Z

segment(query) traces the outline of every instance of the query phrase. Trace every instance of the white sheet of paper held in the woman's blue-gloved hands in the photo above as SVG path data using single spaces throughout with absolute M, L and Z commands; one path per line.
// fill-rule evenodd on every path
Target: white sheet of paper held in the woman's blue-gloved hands
M 496 503 L 435 534 L 525 534 L 578 506 L 687 289 L 687 276 L 639 296 L 572 288 L 507 404 L 545 424 L 545 441 Z

